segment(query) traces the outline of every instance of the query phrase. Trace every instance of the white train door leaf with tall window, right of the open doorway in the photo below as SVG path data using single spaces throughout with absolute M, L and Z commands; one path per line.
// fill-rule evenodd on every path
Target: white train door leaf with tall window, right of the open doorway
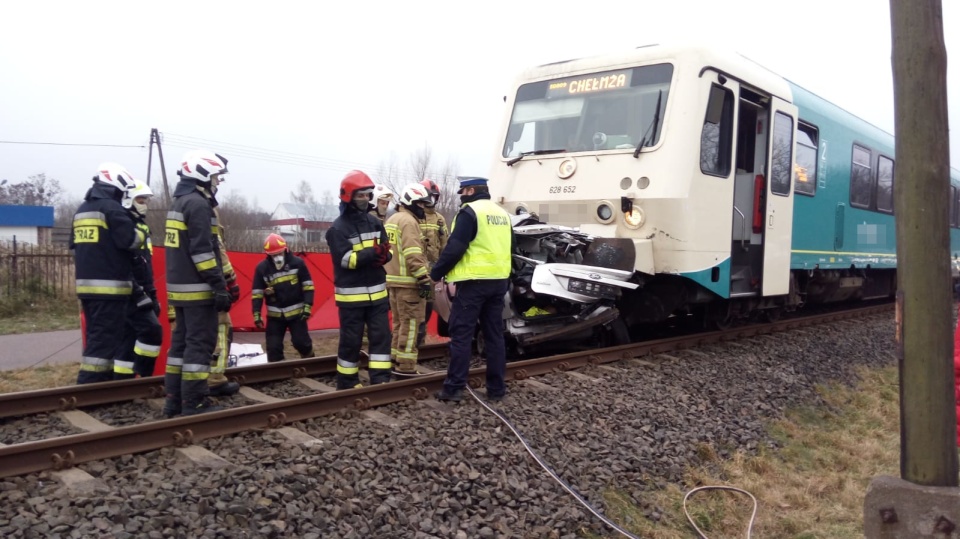
M 763 222 L 764 296 L 790 292 L 790 245 L 793 233 L 793 152 L 797 107 L 770 98 L 773 124 L 767 142 L 766 220 Z

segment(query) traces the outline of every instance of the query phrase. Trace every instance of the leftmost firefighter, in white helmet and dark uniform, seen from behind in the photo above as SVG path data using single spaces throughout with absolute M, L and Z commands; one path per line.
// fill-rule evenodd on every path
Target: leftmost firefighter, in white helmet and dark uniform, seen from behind
M 134 254 L 146 241 L 121 201 L 133 176 L 117 163 L 103 163 L 73 216 L 70 249 L 76 258 L 77 297 L 86 321 L 78 384 L 114 378 L 114 358 L 124 337 L 127 306 L 153 309 L 133 277 Z

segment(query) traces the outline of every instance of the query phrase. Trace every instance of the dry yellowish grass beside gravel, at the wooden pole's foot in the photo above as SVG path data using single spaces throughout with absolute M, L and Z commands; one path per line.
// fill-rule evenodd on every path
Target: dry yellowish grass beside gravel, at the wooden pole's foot
M 646 508 L 628 493 L 609 489 L 607 514 L 641 537 L 692 537 L 684 494 L 698 485 L 729 485 L 757 498 L 754 537 L 863 537 L 867 486 L 874 476 L 899 475 L 900 411 L 896 367 L 859 373 L 856 388 L 818 388 L 827 406 L 790 410 L 770 424 L 768 432 L 780 450 L 736 453 L 724 461 L 714 448 L 703 446 L 697 453 L 704 465 L 686 474 L 690 487 L 650 490 L 640 500 Z M 693 495 L 687 509 L 708 536 L 743 537 L 751 502 L 737 493 L 707 491 Z M 653 511 L 659 522 L 648 518 Z

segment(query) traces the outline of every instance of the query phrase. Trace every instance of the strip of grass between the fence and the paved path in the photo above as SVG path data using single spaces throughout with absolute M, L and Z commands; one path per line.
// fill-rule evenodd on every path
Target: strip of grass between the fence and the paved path
M 15 294 L 0 297 L 0 335 L 80 329 L 76 298 Z

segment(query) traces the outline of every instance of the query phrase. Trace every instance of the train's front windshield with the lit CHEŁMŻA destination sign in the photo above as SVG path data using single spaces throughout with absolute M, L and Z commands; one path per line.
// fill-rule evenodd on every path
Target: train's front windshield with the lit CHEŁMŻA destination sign
M 654 146 L 672 76 L 673 65 L 657 64 L 524 84 L 517 90 L 503 157 Z

